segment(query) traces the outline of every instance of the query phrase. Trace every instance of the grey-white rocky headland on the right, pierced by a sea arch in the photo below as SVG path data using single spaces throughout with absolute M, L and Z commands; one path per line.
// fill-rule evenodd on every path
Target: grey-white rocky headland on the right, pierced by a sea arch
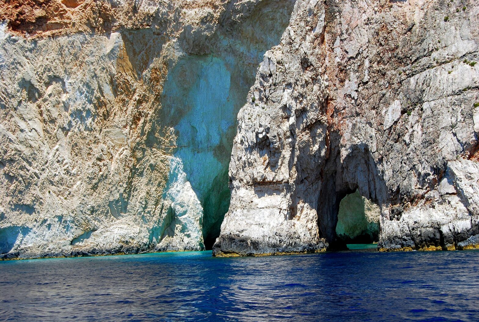
M 356 189 L 380 250 L 476 247 L 478 27 L 475 1 L 296 1 L 239 111 L 214 255 L 342 247 Z

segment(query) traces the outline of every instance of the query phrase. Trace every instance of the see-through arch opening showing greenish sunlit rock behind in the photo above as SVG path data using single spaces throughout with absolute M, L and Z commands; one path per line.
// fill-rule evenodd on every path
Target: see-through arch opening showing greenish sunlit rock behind
M 350 249 L 368 248 L 366 244 L 377 243 L 380 213 L 379 206 L 361 196 L 358 190 L 344 196 L 336 224 L 338 242 Z

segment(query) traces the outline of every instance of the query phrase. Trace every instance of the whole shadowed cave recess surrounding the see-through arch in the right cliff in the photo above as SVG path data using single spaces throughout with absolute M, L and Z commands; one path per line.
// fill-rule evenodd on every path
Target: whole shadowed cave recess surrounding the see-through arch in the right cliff
M 319 236 L 328 250 L 348 249 L 348 244 L 371 244 L 379 239 L 381 205 L 388 189 L 368 147 L 358 144 L 341 156 L 340 136 L 330 134 L 330 157 L 322 167 L 318 198 Z

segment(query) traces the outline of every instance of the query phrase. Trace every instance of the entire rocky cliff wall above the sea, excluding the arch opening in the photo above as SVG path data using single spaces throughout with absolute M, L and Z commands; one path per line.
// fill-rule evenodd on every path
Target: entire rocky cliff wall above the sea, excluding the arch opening
M 2 258 L 479 247 L 475 0 L 0 8 Z

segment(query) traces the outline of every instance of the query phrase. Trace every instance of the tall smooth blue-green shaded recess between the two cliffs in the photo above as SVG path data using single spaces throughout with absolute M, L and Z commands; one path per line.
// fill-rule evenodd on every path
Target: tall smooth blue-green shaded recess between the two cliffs
M 279 43 L 294 2 L 261 1 L 243 13 L 228 7 L 207 42 L 211 47 L 198 48 L 201 55 L 186 48 L 190 54 L 168 73 L 161 110 L 148 138 L 154 140 L 162 127 L 174 128 L 171 153 L 182 160 L 186 179 L 203 207 L 205 249 L 211 249 L 219 236 L 229 207 L 228 165 L 239 109 L 264 53 Z M 231 18 L 234 14 L 243 15 L 240 22 Z

